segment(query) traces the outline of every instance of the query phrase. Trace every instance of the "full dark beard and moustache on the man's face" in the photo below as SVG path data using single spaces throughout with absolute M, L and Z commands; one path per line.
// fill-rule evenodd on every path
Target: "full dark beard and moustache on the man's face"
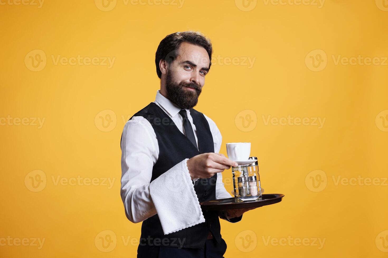
M 184 89 L 184 87 L 191 87 L 195 91 Z M 177 104 L 182 109 L 191 109 L 198 103 L 199 94 L 201 94 L 201 87 L 194 82 L 180 82 L 177 83 L 173 80 L 170 71 L 166 76 L 166 91 L 168 99 Z

